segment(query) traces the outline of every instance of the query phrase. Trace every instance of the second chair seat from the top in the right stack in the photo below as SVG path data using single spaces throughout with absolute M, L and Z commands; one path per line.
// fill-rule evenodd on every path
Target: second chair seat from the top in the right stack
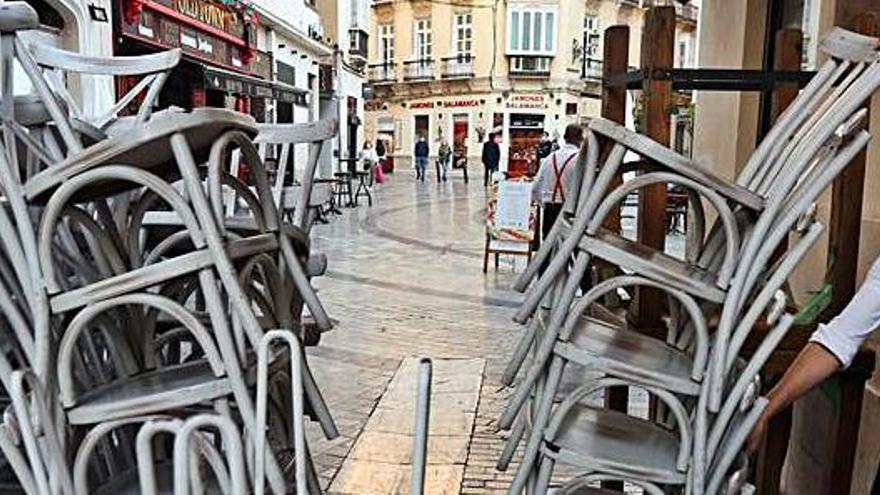
M 601 229 L 593 236 L 584 236 L 578 247 L 624 270 L 652 278 L 700 299 L 720 304 L 727 295 L 717 285 L 717 277 L 713 273 L 607 229 Z

